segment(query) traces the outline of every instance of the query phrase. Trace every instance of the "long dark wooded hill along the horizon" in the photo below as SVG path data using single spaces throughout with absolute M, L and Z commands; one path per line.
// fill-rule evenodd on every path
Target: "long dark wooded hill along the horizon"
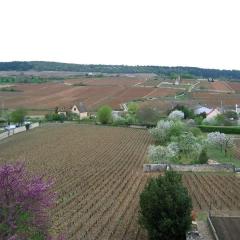
M 163 66 L 127 66 L 127 65 L 85 65 L 59 62 L 0 62 L 0 71 L 69 71 L 83 73 L 155 73 L 169 77 L 181 75 L 185 78 L 222 78 L 240 79 L 238 70 L 204 69 L 196 67 L 163 67 Z

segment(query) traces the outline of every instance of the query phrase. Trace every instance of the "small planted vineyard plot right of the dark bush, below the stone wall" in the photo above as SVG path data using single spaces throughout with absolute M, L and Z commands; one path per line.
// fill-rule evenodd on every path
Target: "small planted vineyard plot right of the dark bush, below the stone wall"
M 195 210 L 240 210 L 240 178 L 234 175 L 184 174 Z

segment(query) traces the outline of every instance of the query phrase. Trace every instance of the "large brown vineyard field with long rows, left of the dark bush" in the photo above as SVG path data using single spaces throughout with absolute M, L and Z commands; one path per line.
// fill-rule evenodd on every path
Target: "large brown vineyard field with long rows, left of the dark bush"
M 55 180 L 54 232 L 69 240 L 144 240 L 138 204 L 151 141 L 146 130 L 56 124 L 10 137 L 0 161 L 23 160 Z

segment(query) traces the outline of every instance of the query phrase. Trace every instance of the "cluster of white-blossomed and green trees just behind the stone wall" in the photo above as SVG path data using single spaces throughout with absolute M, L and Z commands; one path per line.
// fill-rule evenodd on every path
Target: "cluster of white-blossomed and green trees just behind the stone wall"
M 187 125 L 183 119 L 184 113 L 175 110 L 167 120 L 160 120 L 155 128 L 149 130 L 157 144 L 149 146 L 148 157 L 151 162 L 207 162 L 207 144 L 201 130 Z

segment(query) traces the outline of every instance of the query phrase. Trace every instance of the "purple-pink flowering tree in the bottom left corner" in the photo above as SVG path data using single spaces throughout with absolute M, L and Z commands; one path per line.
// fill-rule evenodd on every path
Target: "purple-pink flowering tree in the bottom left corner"
M 47 211 L 55 200 L 52 185 L 30 176 L 23 164 L 0 166 L 1 240 L 51 239 Z

